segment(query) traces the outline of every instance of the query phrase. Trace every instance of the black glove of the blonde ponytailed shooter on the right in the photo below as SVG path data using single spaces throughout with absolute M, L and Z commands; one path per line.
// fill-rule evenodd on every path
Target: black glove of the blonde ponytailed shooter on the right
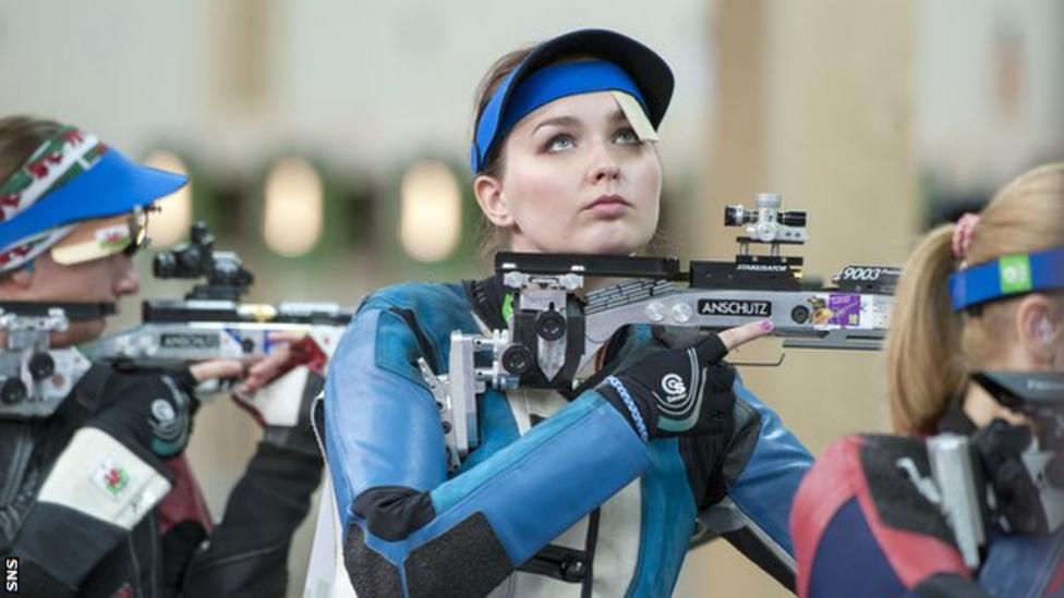
M 1045 534 L 1048 524 L 1041 498 L 1021 453 L 1030 446 L 1027 426 L 994 419 L 976 432 L 972 444 L 982 460 L 987 481 L 998 496 L 998 512 L 1017 534 Z

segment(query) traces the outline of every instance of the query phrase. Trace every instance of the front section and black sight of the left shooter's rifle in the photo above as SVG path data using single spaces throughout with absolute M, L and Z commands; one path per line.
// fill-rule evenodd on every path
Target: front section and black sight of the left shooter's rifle
M 143 324 L 83 347 L 94 359 L 136 367 L 177 367 L 219 358 L 255 358 L 270 352 L 270 334 L 302 332 L 330 355 L 352 312 L 335 303 L 242 304 L 254 281 L 233 252 L 214 248 L 206 224 L 192 225 L 189 243 L 160 252 L 152 263 L 156 278 L 201 279 L 183 301 L 148 300 Z

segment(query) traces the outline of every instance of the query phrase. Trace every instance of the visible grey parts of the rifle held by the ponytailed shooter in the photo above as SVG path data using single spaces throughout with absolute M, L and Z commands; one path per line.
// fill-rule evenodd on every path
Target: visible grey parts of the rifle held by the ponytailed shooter
M 999 403 L 1032 422 L 1035 437 L 1021 460 L 1038 492 L 1042 533 L 1064 524 L 1064 374 L 1032 371 L 982 371 L 972 379 Z M 965 564 L 977 569 L 987 527 L 1002 511 L 1003 497 L 988 500 L 982 460 L 970 438 L 943 434 L 928 439 L 931 476 L 921 478 L 915 464 L 899 460 L 920 492 L 936 504 L 953 529 Z M 1007 522 L 1005 522 L 1007 524 Z M 1007 525 L 1005 526 L 1007 530 Z

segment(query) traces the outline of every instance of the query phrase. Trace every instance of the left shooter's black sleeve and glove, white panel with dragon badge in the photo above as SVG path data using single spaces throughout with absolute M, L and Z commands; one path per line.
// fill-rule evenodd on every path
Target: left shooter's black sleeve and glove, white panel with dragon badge
M 73 431 L 53 462 L 36 465 L 47 475 L 9 552 L 20 558 L 23 594 L 29 596 L 72 596 L 84 589 L 94 569 L 130 541 L 171 488 L 170 474 L 155 451 L 180 442 L 188 413 L 179 407 L 162 419 L 171 425 L 164 426 L 148 420 L 146 411 L 125 407 L 162 398 L 169 405 L 184 405 L 183 391 L 159 376 L 95 379 L 106 383 L 87 392 L 83 380 L 76 392 L 85 394 L 68 399 L 74 403 L 64 412 L 74 411 L 75 401 L 88 400 L 106 408 Z M 62 434 L 44 439 L 41 454 L 63 440 Z

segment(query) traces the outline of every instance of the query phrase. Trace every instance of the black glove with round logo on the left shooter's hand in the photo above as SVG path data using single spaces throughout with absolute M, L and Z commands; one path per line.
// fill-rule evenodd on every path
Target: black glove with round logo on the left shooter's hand
M 104 389 L 109 406 L 87 425 L 160 459 L 176 456 L 189 444 L 195 386 L 188 369 L 114 374 Z

